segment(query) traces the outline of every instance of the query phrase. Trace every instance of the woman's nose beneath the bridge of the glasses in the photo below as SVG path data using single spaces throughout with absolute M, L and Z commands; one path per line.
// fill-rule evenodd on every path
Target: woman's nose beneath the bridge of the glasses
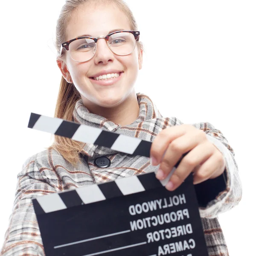
M 100 38 L 97 41 L 97 49 L 95 53 L 95 64 L 108 64 L 109 61 L 114 60 L 114 54 L 108 47 L 108 42 L 105 38 Z

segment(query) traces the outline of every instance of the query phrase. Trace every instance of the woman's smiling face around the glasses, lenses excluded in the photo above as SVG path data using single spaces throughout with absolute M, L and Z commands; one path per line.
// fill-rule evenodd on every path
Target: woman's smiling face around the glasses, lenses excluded
M 84 34 L 96 38 L 108 35 L 114 29 L 131 30 L 128 18 L 116 6 L 84 5 L 73 12 L 65 39 L 68 41 Z M 114 54 L 109 49 L 107 41 L 101 38 L 97 41 L 94 57 L 81 63 L 74 61 L 67 51 L 64 54 L 66 65 L 62 69 L 61 63 L 58 62 L 58 66 L 64 78 L 67 81 L 71 79 L 87 108 L 111 108 L 122 105 L 123 102 L 134 102 L 134 84 L 142 67 L 143 54 L 137 44 L 131 54 L 119 56 Z M 116 78 L 101 81 L 95 78 L 113 73 L 117 74 Z

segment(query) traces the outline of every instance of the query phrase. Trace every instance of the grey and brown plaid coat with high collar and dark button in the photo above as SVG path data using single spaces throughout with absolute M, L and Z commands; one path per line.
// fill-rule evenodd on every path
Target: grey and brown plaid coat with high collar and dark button
M 153 141 L 162 129 L 182 124 L 176 118 L 163 118 L 148 96 L 138 93 L 137 98 L 140 113 L 131 125 L 121 127 L 102 116 L 90 113 L 81 100 L 76 103 L 74 121 L 148 141 Z M 194 126 L 207 133 L 207 138 L 222 152 L 226 160 L 224 175 L 195 185 L 195 188 L 209 256 L 227 256 L 228 250 L 217 215 L 233 208 L 241 200 L 241 183 L 233 149 L 221 132 L 211 124 L 197 123 Z M 15 202 L 1 255 L 45 255 L 32 198 L 157 171 L 157 166 L 151 166 L 147 157 L 129 155 L 102 146 L 85 144 L 82 154 L 85 161 L 76 168 L 52 149 L 26 160 L 22 171 L 17 175 Z M 111 166 L 97 168 L 94 159 L 99 156 L 108 157 Z

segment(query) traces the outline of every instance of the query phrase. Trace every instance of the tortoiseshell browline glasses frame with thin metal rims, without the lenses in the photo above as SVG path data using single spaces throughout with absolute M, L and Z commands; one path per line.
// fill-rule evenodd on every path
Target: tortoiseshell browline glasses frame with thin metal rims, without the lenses
M 96 49 L 97 49 L 97 41 L 98 41 L 99 39 L 105 38 L 105 40 L 108 42 L 108 39 L 110 38 L 111 35 L 114 35 L 114 34 L 119 33 L 119 32 L 129 32 L 129 33 L 131 33 L 131 34 L 134 35 L 134 39 L 135 39 L 136 41 L 139 41 L 139 40 L 140 40 L 140 31 L 133 31 L 133 30 L 119 30 L 119 31 L 112 32 L 112 33 L 110 33 L 110 34 L 108 34 L 108 35 L 106 35 L 106 36 L 99 36 L 99 37 L 97 37 L 97 38 L 93 38 L 93 37 L 89 37 L 89 36 L 82 36 L 82 37 L 74 38 L 74 39 L 71 39 L 71 40 L 69 40 L 69 41 L 67 41 L 67 42 L 62 43 L 62 44 L 61 44 L 61 49 L 60 49 L 60 54 L 63 55 L 64 49 L 65 49 L 66 51 L 69 50 L 69 45 L 70 45 L 70 43 L 72 43 L 73 41 L 79 40 L 79 39 L 84 39 L 84 38 L 92 39 L 92 40 L 95 42 L 95 44 L 96 44 Z M 109 49 L 111 49 L 109 44 L 108 44 L 108 47 L 109 47 Z M 135 49 L 135 48 L 134 48 L 134 49 Z M 111 49 L 111 52 L 113 52 L 112 49 Z M 114 52 L 113 52 L 113 53 L 114 53 Z M 116 53 L 114 53 L 114 54 L 116 54 Z M 126 55 L 129 55 L 129 54 L 131 54 L 131 52 L 128 53 L 128 54 L 126 54 Z M 117 54 L 117 55 L 118 55 L 118 54 Z M 94 55 L 93 55 L 93 56 L 94 56 Z M 125 55 L 120 55 L 120 56 L 125 56 Z M 70 55 L 70 57 L 71 57 L 71 55 Z M 71 57 L 71 58 L 72 58 L 72 57 Z M 93 57 L 92 57 L 92 58 L 93 58 Z M 73 59 L 73 58 L 72 58 L 72 59 Z M 74 60 L 74 59 L 73 59 L 73 60 Z M 90 59 L 89 59 L 89 60 L 90 60 Z M 88 60 L 88 61 L 89 61 L 89 60 Z M 76 61 L 76 60 L 74 60 L 74 61 Z M 86 62 L 86 61 L 76 61 L 76 62 Z

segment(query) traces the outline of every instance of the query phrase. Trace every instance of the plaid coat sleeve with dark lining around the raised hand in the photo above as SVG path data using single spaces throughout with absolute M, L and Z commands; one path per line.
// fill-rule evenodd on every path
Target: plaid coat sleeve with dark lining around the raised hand
M 242 188 L 238 166 L 233 148 L 221 131 L 210 123 L 198 123 L 194 126 L 207 134 L 207 139 L 221 151 L 226 162 L 222 175 L 195 185 L 201 218 L 215 218 L 218 214 L 235 207 L 241 200 Z

